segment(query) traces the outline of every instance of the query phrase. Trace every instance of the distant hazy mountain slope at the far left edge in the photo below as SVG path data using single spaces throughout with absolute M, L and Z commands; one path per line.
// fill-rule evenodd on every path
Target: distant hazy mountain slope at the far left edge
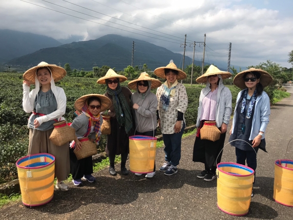
M 0 30 L 0 63 L 42 48 L 59 45 L 62 43 L 50 37 L 6 29 Z

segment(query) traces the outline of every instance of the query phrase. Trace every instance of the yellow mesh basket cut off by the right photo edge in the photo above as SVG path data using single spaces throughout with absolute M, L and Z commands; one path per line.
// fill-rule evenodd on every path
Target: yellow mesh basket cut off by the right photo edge
M 293 207 L 293 160 L 276 160 L 274 172 L 273 199 Z

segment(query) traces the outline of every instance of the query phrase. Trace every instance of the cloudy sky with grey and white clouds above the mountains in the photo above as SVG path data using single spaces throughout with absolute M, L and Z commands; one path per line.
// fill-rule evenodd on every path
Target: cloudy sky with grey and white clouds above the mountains
M 206 33 L 207 62 L 227 63 L 232 43 L 231 65 L 292 67 L 292 8 L 293 0 L 1 0 L 0 29 L 74 41 L 119 34 L 178 53 L 186 34 L 189 57 Z M 202 56 L 196 43 L 195 59 Z

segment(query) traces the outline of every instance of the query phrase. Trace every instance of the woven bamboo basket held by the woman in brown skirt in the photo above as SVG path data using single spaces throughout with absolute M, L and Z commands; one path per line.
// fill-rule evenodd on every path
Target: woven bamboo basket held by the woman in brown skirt
M 66 121 L 63 120 L 53 125 L 54 130 L 49 137 L 53 144 L 62 146 L 63 144 L 74 140 L 75 129 L 68 126 Z

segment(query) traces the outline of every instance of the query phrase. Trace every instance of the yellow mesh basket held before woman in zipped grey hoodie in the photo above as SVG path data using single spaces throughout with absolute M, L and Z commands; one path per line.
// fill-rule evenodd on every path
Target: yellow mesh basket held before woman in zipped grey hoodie
M 157 138 L 145 135 L 129 137 L 129 164 L 132 173 L 146 174 L 154 170 Z

